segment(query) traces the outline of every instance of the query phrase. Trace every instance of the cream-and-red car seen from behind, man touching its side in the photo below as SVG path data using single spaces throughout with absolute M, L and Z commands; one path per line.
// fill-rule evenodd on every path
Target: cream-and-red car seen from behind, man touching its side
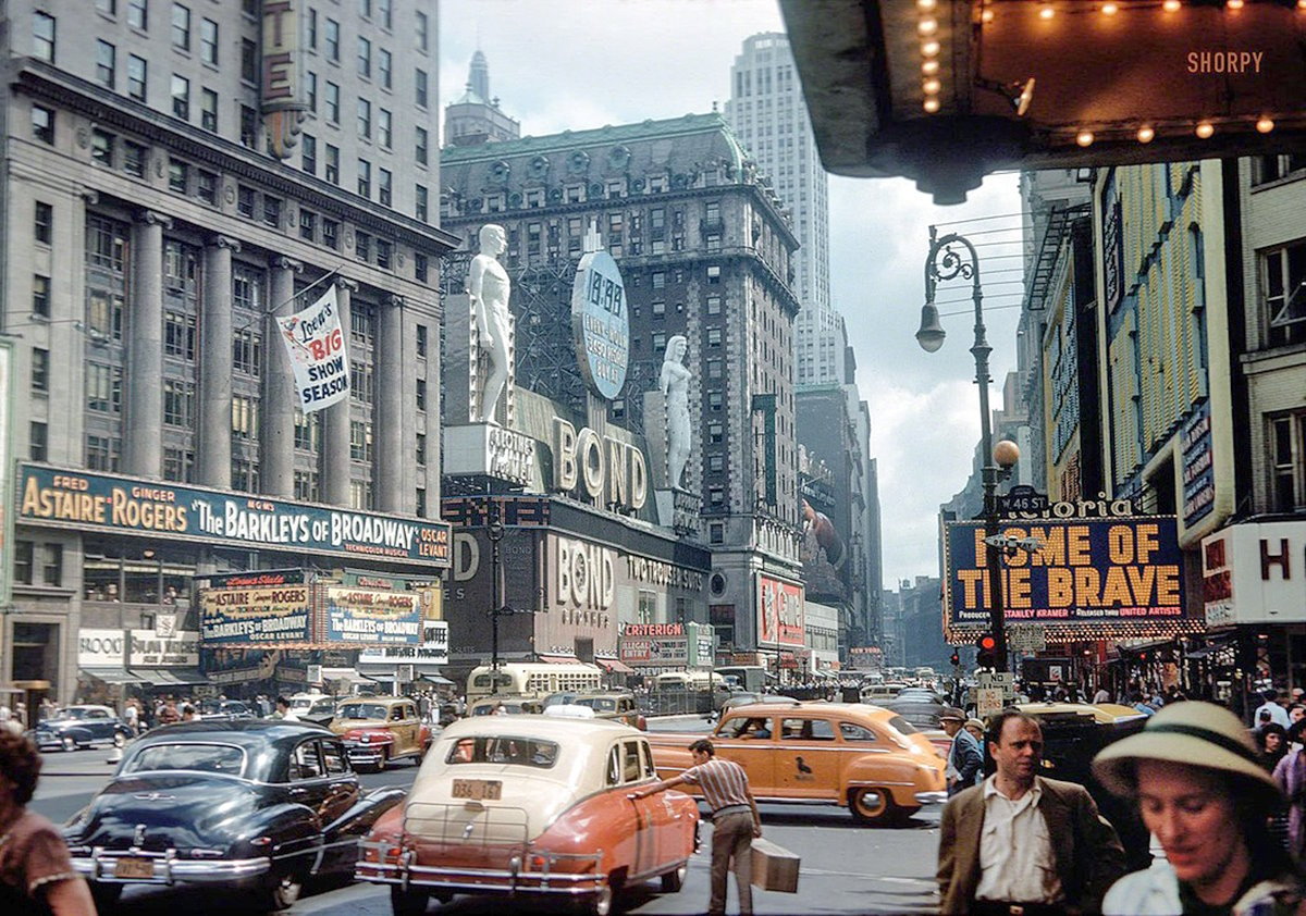
M 355 877 L 389 885 L 396 916 L 454 894 L 572 898 L 606 916 L 623 887 L 678 891 L 697 846 L 692 799 L 629 797 L 654 778 L 648 736 L 618 722 L 462 719 L 362 844 Z

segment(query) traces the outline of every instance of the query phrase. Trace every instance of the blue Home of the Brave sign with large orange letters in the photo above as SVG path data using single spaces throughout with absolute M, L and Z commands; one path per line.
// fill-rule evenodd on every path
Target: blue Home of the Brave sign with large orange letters
M 944 525 L 944 630 L 989 629 L 982 522 Z M 1049 635 L 1174 633 L 1200 625 L 1185 615 L 1183 560 L 1173 515 L 1020 521 L 998 526 L 1037 549 L 999 551 L 1008 624 L 1042 624 Z

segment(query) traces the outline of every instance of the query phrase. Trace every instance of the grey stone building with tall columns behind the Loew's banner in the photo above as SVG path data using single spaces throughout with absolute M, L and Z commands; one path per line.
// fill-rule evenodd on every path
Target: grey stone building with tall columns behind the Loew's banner
M 419 0 L 5 5 L 0 262 L 18 458 L 145 489 L 248 493 L 255 508 L 268 497 L 269 511 L 439 517 L 432 287 L 452 245 L 432 202 L 434 12 Z M 329 283 L 353 391 L 304 415 L 269 313 Z M 340 562 L 29 521 L 0 681 L 47 677 L 60 701 L 78 628 L 148 629 L 197 573 Z

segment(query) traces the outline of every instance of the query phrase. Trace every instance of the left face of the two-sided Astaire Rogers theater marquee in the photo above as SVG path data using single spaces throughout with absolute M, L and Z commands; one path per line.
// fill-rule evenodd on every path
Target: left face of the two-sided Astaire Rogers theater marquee
M 311 586 L 202 588 L 200 638 L 206 646 L 308 647 Z

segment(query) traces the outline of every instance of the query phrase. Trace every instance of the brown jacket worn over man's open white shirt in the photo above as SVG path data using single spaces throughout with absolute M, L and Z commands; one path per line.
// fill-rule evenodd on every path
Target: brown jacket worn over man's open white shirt
M 1076 783 L 1040 778 L 1038 810 L 1047 823 L 1066 908 L 1097 913 L 1102 898 L 1124 874 L 1124 849 L 1098 813 L 1088 791 Z M 986 780 L 987 782 L 987 780 Z M 980 838 L 983 831 L 983 787 L 973 786 L 948 800 L 939 830 L 940 913 L 966 913 L 980 886 Z

